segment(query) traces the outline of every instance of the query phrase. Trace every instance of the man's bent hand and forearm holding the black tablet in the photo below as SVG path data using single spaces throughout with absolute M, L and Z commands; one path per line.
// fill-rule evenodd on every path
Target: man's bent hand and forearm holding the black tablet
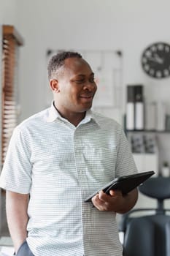
M 132 190 L 128 195 L 122 195 L 120 190 L 110 190 L 109 195 L 103 191 L 98 192 L 92 198 L 92 202 L 99 211 L 115 211 L 124 214 L 134 207 L 137 198 L 137 189 Z

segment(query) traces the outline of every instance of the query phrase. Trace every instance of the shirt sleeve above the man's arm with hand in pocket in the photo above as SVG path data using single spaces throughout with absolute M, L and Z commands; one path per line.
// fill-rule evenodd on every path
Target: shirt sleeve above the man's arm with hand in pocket
M 20 194 L 31 188 L 31 150 L 22 130 L 15 128 L 9 141 L 7 156 L 1 171 L 0 187 Z

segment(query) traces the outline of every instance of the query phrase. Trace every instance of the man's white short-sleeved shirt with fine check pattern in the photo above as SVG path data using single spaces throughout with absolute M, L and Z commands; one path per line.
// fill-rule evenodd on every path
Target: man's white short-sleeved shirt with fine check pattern
M 35 256 L 121 256 L 116 214 L 84 200 L 132 173 L 134 159 L 117 122 L 88 110 L 74 127 L 52 105 L 15 128 L 0 185 L 30 194 L 27 242 Z

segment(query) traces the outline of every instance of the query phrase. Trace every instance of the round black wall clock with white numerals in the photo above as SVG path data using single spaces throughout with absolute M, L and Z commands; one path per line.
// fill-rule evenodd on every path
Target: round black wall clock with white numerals
M 170 45 L 155 42 L 142 53 L 142 68 L 152 78 L 170 76 Z

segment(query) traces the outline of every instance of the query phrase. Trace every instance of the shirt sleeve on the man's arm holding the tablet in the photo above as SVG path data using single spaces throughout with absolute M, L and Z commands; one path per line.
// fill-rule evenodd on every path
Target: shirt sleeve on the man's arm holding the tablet
M 131 153 L 131 148 L 122 128 L 120 128 L 120 138 L 117 148 L 117 162 L 115 173 L 117 177 L 137 173 L 134 157 Z

